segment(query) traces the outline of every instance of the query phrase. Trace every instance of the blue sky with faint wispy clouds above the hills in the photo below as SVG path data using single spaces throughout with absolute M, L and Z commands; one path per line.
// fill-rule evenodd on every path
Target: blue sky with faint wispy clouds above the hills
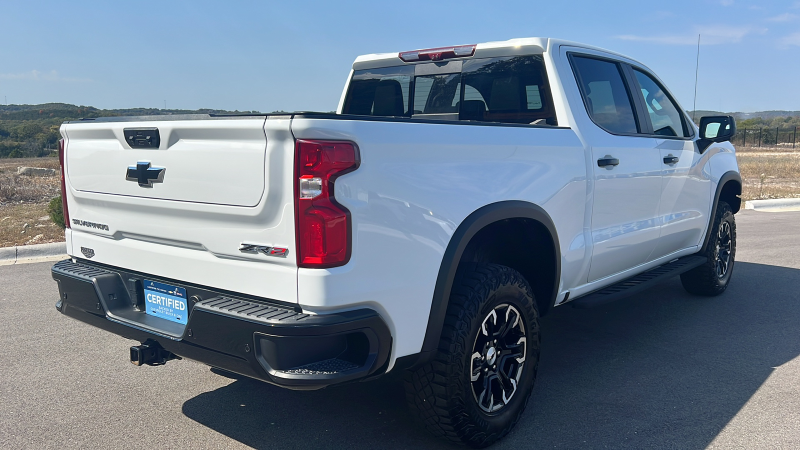
M 686 109 L 800 110 L 800 1 L 0 0 L 0 102 L 334 110 L 353 59 L 531 36 L 650 66 Z

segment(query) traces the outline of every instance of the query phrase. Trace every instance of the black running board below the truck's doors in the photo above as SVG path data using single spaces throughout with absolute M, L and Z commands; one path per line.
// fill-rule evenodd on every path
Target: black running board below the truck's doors
M 619 283 L 603 287 L 599 291 L 572 300 L 572 307 L 586 309 L 598 305 L 611 303 L 614 300 L 624 299 L 627 296 L 637 294 L 660 283 L 665 279 L 670 279 L 676 275 L 681 275 L 685 271 L 690 271 L 694 267 L 702 266 L 708 259 L 705 256 L 684 256 L 671 263 L 658 266 L 649 271 L 634 275 L 629 279 L 623 279 Z

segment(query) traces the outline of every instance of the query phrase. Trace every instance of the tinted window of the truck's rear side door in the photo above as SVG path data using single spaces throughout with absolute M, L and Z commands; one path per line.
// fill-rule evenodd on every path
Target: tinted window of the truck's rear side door
M 617 63 L 574 56 L 572 67 L 594 123 L 611 133 L 639 132 L 634 106 Z

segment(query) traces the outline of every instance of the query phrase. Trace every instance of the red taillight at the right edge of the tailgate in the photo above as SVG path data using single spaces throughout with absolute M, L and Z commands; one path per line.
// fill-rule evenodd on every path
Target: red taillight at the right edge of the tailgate
M 334 180 L 358 168 L 358 147 L 298 139 L 294 150 L 298 266 L 342 266 L 350 259 L 350 211 L 334 199 Z

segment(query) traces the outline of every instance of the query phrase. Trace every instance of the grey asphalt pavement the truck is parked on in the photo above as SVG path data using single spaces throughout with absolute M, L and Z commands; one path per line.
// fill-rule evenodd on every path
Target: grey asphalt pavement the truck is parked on
M 723 295 L 675 278 L 542 319 L 532 398 L 493 448 L 800 448 L 800 212 L 737 223 Z M 292 392 L 186 360 L 137 368 L 133 341 L 55 310 L 51 265 L 0 267 L 0 448 L 456 448 L 396 378 Z

